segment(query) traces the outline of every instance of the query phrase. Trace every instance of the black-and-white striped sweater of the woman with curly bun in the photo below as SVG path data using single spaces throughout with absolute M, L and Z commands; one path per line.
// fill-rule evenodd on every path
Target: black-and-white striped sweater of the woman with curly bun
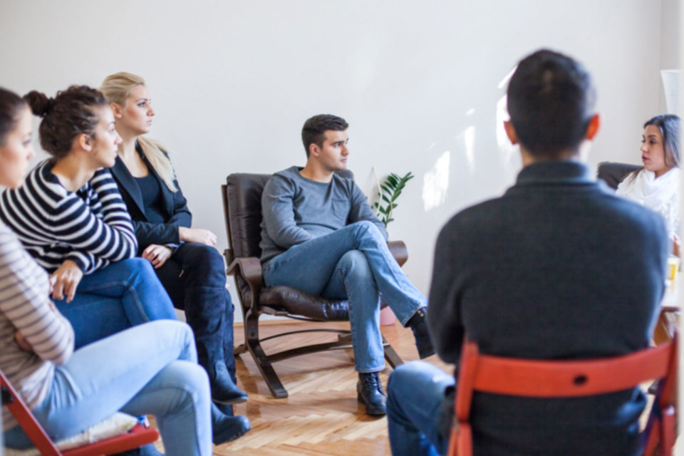
M 71 259 L 84 274 L 135 257 L 138 242 L 116 182 L 106 168 L 77 192 L 69 192 L 49 160 L 23 186 L 0 196 L 0 219 L 48 272 Z

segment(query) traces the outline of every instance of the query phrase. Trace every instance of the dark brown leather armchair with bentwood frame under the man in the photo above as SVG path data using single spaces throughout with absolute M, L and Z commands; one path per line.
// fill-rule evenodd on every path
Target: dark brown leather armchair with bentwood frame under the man
M 341 172 L 343 177 L 353 179 L 349 171 Z M 235 355 L 245 351 L 252 353 L 257 367 L 275 398 L 286 398 L 287 391 L 281 383 L 272 363 L 294 356 L 318 351 L 351 348 L 351 333 L 338 329 L 306 329 L 288 331 L 268 338 L 259 338 L 259 316 L 261 314 L 286 316 L 304 321 L 348 321 L 349 307 L 347 301 L 326 299 L 312 296 L 304 291 L 289 286 L 266 288 L 261 275 L 261 193 L 271 175 L 237 173 L 227 177 L 221 186 L 223 208 L 226 218 L 229 249 L 224 255 L 228 266 L 227 274 L 235 276 L 237 294 L 242 306 L 244 318 L 244 343 L 235 348 Z M 388 243 L 398 264 L 403 265 L 408 259 L 408 252 L 403 242 Z M 383 306 L 386 304 L 383 304 Z M 266 339 L 289 336 L 311 331 L 328 331 L 338 333 L 338 340 L 329 343 L 316 343 L 267 355 L 261 342 Z M 383 338 L 385 358 L 390 366 L 403 363 L 392 346 Z

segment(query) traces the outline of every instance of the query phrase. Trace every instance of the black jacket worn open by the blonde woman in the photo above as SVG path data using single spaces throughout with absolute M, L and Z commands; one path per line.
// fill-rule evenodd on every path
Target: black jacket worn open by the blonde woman
M 183 192 L 180 190 L 177 180 L 174 180 L 177 190 L 171 192 L 161 177 L 157 175 L 152 165 L 142 155 L 138 145 L 136 145 L 135 150 L 140 153 L 142 160 L 147 165 L 147 169 L 160 182 L 162 199 L 164 201 L 164 207 L 161 208 L 160 212 L 165 214 L 166 218 L 165 223 L 162 224 L 147 221 L 140 187 L 138 187 L 138 183 L 135 182 L 123 161 L 116 157 L 116 162 L 111 168 L 111 172 L 119 186 L 119 192 L 128 208 L 130 218 L 133 219 L 135 237 L 138 238 L 140 252 L 150 244 L 179 244 L 178 227 L 190 228 L 192 224 L 192 214 L 190 214 L 190 209 L 187 208 L 187 201 L 183 196 Z

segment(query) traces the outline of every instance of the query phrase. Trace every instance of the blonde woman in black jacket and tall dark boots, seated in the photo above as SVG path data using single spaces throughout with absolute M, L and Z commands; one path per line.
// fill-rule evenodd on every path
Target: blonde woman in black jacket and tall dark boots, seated
M 155 115 L 145 81 L 116 73 L 105 78 L 100 90 L 112 103 L 123 138 L 112 174 L 133 219 L 139 254 L 154 265 L 174 306 L 185 310 L 214 400 L 244 402 L 247 395 L 235 386 L 233 305 L 224 262 L 214 248 L 216 236 L 191 227 L 192 215 L 168 156 L 143 136 Z M 232 387 L 225 388 L 229 382 Z

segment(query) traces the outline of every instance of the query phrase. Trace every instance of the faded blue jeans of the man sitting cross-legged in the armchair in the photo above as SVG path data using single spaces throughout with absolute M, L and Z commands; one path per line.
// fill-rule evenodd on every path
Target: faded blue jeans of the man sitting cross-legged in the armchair
M 425 296 L 413 286 L 371 222 L 356 222 L 290 247 L 264 266 L 266 286 L 293 286 L 309 294 L 348 299 L 354 363 L 358 372 L 385 368 L 380 294 L 406 323 Z

